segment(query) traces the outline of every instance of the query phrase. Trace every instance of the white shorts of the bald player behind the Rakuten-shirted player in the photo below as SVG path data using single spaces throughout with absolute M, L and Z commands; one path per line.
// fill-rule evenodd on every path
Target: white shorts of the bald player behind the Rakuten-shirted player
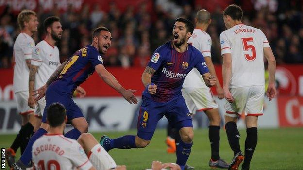
M 183 98 L 190 113 L 218 108 L 210 88 L 183 88 Z

